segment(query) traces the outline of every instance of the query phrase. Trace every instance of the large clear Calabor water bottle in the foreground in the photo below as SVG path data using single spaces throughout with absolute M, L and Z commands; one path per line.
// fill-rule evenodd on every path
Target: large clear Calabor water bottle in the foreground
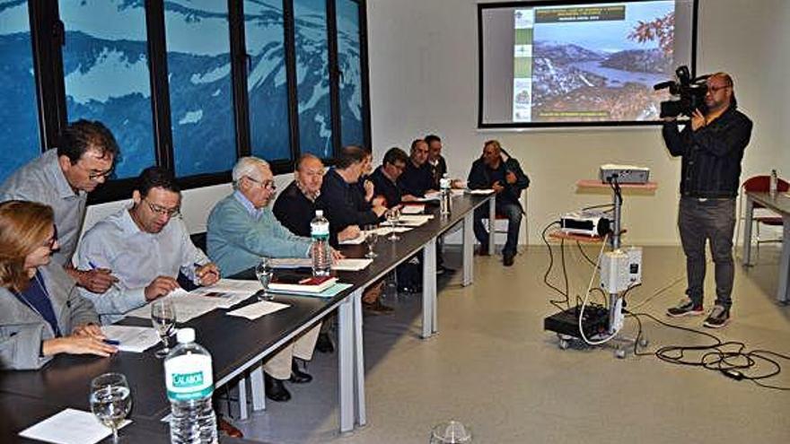
M 195 330 L 181 328 L 179 344 L 164 361 L 170 399 L 170 441 L 174 444 L 212 444 L 217 441 L 216 416 L 211 405 L 214 375 L 211 354 L 195 343 Z

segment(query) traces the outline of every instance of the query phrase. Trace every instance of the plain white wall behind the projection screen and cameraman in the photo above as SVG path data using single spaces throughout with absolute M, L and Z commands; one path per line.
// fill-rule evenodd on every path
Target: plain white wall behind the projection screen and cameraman
M 530 243 L 558 214 L 609 202 L 604 193 L 578 192 L 601 163 L 650 167 L 653 195 L 626 196 L 628 241 L 674 244 L 680 161 L 663 146 L 659 128 L 553 132 L 479 132 L 477 4 L 474 0 L 368 0 L 373 147 L 408 148 L 418 135 L 443 136 L 449 169 L 466 175 L 485 140 L 497 138 L 522 162 L 529 190 Z M 744 177 L 769 168 L 790 173 L 783 149 L 790 117 L 787 44 L 790 2 L 701 0 L 698 73 L 733 74 L 742 110 L 755 121 Z M 787 175 L 787 174 L 786 174 Z

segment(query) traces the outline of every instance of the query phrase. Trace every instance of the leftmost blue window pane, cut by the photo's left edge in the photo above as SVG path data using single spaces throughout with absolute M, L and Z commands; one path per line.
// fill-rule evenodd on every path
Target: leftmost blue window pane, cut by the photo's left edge
M 41 153 L 31 22 L 25 0 L 0 0 L 0 183 Z

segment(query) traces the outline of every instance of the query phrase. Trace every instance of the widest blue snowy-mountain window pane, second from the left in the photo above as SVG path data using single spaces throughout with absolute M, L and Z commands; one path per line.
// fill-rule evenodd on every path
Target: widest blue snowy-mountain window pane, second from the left
M 151 81 L 143 2 L 61 0 L 63 74 L 71 121 L 100 120 L 118 140 L 116 177 L 154 164 Z

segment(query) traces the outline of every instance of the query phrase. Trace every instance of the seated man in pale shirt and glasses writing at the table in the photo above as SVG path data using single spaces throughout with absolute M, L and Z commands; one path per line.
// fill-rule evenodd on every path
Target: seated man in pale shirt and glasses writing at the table
M 132 201 L 131 207 L 85 232 L 76 255 L 80 268 L 107 268 L 118 277 L 118 283 L 103 294 L 83 290 L 103 324 L 179 288 L 179 274 L 198 285 L 211 285 L 220 277 L 217 267 L 189 239 L 179 217 L 180 187 L 170 171 L 143 170 Z

